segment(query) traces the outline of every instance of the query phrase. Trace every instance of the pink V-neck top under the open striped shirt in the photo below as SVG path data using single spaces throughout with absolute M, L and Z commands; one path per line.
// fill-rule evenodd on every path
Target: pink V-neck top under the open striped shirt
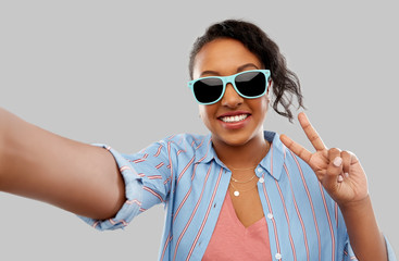
M 202 258 L 202 261 L 209 260 L 272 260 L 265 217 L 245 227 L 237 217 L 228 191 Z

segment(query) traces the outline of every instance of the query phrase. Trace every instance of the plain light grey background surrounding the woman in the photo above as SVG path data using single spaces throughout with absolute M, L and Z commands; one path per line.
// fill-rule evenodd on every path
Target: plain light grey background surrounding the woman
M 188 52 L 211 23 L 249 20 L 299 75 L 327 146 L 360 158 L 378 224 L 397 250 L 397 3 L 1 1 L 0 105 L 122 152 L 175 133 L 204 134 L 186 88 Z M 270 111 L 265 128 L 311 149 L 297 121 Z M 63 210 L 0 194 L 0 259 L 155 260 L 163 220 L 157 207 L 124 231 L 100 233 Z

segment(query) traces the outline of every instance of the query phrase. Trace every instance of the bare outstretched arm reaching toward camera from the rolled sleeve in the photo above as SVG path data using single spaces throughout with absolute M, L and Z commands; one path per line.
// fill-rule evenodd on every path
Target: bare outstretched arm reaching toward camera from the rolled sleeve
M 112 156 L 60 137 L 0 109 L 0 190 L 67 211 L 111 217 L 124 201 Z

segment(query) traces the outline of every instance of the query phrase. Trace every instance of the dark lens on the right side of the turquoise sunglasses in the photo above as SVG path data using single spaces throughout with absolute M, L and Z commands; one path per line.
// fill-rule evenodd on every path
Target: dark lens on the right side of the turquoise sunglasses
M 239 92 L 248 97 L 262 95 L 266 89 L 266 77 L 261 72 L 248 72 L 236 77 Z

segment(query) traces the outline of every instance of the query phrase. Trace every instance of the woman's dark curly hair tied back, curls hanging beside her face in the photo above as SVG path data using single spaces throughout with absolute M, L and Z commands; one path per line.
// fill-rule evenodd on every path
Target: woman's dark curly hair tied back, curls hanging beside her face
M 195 41 L 189 60 L 189 74 L 192 79 L 192 70 L 196 55 L 204 45 L 220 38 L 232 38 L 239 40 L 248 48 L 259 60 L 264 67 L 271 71 L 273 83 L 273 109 L 280 115 L 288 117 L 292 122 L 292 105 L 294 97 L 297 98 L 298 108 L 304 108 L 303 97 L 298 76 L 287 69 L 287 62 L 280 53 L 278 46 L 257 25 L 241 20 L 226 20 L 211 25 L 204 33 Z M 282 105 L 282 110 L 279 109 Z

